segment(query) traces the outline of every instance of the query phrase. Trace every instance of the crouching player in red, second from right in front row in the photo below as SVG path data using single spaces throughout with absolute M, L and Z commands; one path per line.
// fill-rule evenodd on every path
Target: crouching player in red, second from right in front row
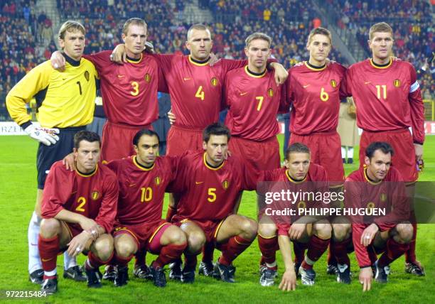
M 284 161 L 285 168 L 272 171 L 264 171 L 262 180 L 279 182 L 272 186 L 272 192 L 290 190 L 294 193 L 328 191 L 326 171 L 321 165 L 310 163 L 310 151 L 303 143 L 293 143 L 286 150 Z M 261 188 L 261 186 L 260 186 Z M 279 189 L 278 189 L 279 188 Z M 262 192 L 262 191 L 260 191 Z M 315 203 L 313 205 L 313 203 Z M 299 208 L 318 207 L 322 202 L 312 200 L 299 200 L 291 202 L 274 202 L 269 211 L 263 206 L 259 207 L 258 243 L 262 252 L 260 261 L 260 284 L 262 286 L 274 285 L 277 276 L 276 250 L 281 250 L 284 260 L 285 271 L 279 284 L 283 291 L 291 291 L 296 288 L 296 273 L 301 275 L 304 285 L 314 284 L 316 272 L 313 264 L 320 259 L 328 248 L 331 239 L 331 224 L 327 219 L 311 215 L 298 215 Z M 280 207 L 291 207 L 296 215 L 276 215 L 271 212 Z M 324 205 L 323 205 L 324 207 Z M 311 209 L 312 210 L 312 209 Z M 304 261 L 301 264 L 291 259 L 290 241 L 299 249 L 308 249 Z M 300 250 L 302 251 L 302 250 Z M 302 251 L 303 252 L 303 251 Z

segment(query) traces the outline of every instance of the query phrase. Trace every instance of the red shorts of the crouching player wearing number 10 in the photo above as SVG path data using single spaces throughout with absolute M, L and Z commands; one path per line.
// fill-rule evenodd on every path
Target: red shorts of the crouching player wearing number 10
M 160 238 L 166 229 L 171 227 L 171 223 L 166 222 L 164 219 L 158 221 L 139 224 L 139 225 L 123 225 L 115 223 L 113 236 L 119 234 L 130 234 L 137 244 L 137 248 L 146 249 L 151 254 L 159 254 L 161 249 Z

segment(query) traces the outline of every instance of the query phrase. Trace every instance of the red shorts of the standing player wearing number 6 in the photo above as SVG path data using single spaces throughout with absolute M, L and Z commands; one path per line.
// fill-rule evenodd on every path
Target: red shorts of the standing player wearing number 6
M 292 133 L 289 146 L 292 143 L 304 143 L 311 151 L 311 163 L 323 166 L 328 176 L 331 188 L 344 184 L 345 173 L 341 159 L 340 135 L 336 131 L 311 135 Z

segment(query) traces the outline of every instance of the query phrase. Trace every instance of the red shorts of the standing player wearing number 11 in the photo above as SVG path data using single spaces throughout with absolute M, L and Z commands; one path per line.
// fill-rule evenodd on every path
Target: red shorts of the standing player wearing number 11
M 392 165 L 399 170 L 406 183 L 414 183 L 419 178 L 415 161 L 414 141 L 408 129 L 395 131 L 363 131 L 360 140 L 360 165 L 364 165 L 365 149 L 374 141 L 386 141 L 394 150 Z

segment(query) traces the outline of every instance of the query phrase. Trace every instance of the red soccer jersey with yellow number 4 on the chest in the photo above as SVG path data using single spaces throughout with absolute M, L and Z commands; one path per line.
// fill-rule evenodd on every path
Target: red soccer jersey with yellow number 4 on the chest
M 244 66 L 246 60 L 221 59 L 210 67 L 195 63 L 190 56 L 154 55 L 159 60 L 169 94 L 174 126 L 203 130 L 218 121 L 222 108 L 222 85 L 226 72 Z

